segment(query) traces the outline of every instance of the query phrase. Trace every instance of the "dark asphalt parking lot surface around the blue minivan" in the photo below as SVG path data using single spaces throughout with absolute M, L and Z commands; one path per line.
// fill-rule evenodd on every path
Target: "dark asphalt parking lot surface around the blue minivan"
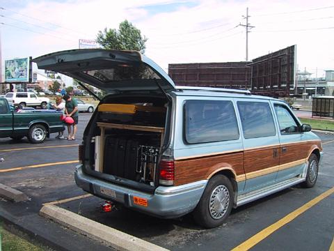
M 38 145 L 29 144 L 27 139 L 19 142 L 0 139 L 0 157 L 5 159 L 0 162 L 0 183 L 30 198 L 17 203 L 0 199 L 0 215 L 7 225 L 19 227 L 54 249 L 110 250 L 103 243 L 38 215 L 42 204 L 67 199 L 58 206 L 170 250 L 334 249 L 334 193 L 321 197 L 334 187 L 333 134 L 317 132 L 325 153 L 314 188 L 296 185 L 234 209 L 221 227 L 200 229 L 189 215 L 161 220 L 127 209 L 103 213 L 102 199 L 93 196 L 76 199 L 86 194 L 75 185 L 73 172 L 77 145 L 89 119 L 90 114 L 80 114 L 76 141 L 54 139 L 56 134 Z M 319 196 L 319 200 L 313 200 Z M 303 207 L 307 203 L 310 204 Z

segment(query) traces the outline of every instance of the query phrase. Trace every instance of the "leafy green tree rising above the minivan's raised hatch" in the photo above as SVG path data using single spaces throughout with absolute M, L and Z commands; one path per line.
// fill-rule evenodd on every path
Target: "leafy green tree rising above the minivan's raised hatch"
M 120 23 L 118 30 L 104 28 L 97 33 L 97 43 L 104 49 L 112 50 L 136 50 L 145 52 L 145 43 L 148 38 L 141 36 L 141 31 L 131 22 L 125 20 Z

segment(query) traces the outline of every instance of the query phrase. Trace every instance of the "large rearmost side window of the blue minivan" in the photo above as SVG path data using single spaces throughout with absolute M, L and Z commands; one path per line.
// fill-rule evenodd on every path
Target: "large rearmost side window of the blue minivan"
M 233 103 L 225 100 L 186 101 L 184 139 L 188 144 L 239 139 Z

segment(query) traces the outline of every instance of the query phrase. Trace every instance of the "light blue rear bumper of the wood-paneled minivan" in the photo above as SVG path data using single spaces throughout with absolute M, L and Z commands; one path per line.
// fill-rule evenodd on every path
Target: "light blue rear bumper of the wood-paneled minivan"
M 193 211 L 207 184 L 204 180 L 173 187 L 159 186 L 151 195 L 89 176 L 83 172 L 82 165 L 77 166 L 74 178 L 80 188 L 92 195 L 159 218 L 178 218 Z M 134 204 L 134 197 L 146 199 L 147 206 Z

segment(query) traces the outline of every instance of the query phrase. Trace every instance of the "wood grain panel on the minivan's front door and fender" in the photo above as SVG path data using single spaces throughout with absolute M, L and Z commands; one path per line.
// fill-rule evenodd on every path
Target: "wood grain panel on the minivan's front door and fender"
M 283 147 L 286 151 L 283 152 Z M 320 149 L 320 142 L 301 142 L 295 144 L 283 144 L 280 148 L 280 165 L 289 162 L 308 158 L 310 152 L 315 149 Z

